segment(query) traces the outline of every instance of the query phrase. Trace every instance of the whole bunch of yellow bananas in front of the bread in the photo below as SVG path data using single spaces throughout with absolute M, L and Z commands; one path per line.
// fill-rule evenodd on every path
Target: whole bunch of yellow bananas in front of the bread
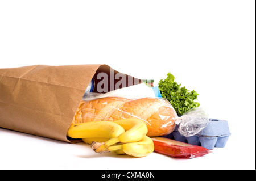
M 140 119 L 94 121 L 72 125 L 67 133 L 82 138 L 96 153 L 114 151 L 134 157 L 144 157 L 154 151 L 154 143 L 147 137 L 147 125 Z

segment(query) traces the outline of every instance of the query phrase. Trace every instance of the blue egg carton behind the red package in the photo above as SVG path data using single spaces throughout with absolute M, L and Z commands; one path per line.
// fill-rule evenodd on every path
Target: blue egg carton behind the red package
M 178 128 L 179 125 L 176 125 L 172 133 L 163 137 L 212 150 L 214 147 L 223 148 L 230 136 L 228 121 L 226 120 L 210 119 L 207 127 L 196 135 L 189 137 L 182 136 Z

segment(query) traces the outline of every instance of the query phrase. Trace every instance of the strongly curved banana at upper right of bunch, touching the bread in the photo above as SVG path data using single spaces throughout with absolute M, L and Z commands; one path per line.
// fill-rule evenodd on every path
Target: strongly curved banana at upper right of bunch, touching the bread
M 106 142 L 93 142 L 92 149 L 97 153 L 108 150 L 110 145 L 116 144 L 117 142 L 127 143 L 142 140 L 148 131 L 147 125 L 141 119 L 120 119 L 114 121 L 114 123 L 121 125 L 125 129 L 125 132 Z

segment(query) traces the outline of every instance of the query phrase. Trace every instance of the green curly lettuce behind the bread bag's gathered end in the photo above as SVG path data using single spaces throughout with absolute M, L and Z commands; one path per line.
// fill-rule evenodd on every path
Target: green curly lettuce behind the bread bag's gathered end
M 159 81 L 158 87 L 162 97 L 169 100 L 179 116 L 200 106 L 198 102 L 195 102 L 199 94 L 195 90 L 189 91 L 185 87 L 181 87 L 181 84 L 175 82 L 175 77 L 171 73 L 167 74 L 164 81 L 163 79 Z

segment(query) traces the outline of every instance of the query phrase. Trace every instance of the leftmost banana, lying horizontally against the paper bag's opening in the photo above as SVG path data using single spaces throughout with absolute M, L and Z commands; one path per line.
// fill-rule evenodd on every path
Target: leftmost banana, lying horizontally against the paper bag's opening
M 125 129 L 111 121 L 93 121 L 79 123 L 69 127 L 67 136 L 71 138 L 115 138 Z

